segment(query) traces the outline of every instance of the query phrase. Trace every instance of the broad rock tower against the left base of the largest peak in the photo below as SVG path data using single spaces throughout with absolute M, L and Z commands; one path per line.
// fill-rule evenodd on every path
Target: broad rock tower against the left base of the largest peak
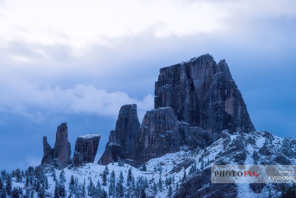
M 147 111 L 136 141 L 138 164 L 180 151 L 178 119 L 170 107 Z

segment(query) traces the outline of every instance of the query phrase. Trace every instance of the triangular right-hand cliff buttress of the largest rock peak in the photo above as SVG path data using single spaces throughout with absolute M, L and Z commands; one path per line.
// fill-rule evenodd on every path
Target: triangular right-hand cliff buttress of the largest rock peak
M 225 60 L 221 60 L 218 66 L 228 68 Z M 231 133 L 255 131 L 242 94 L 229 70 L 213 77 L 201 106 L 200 118 L 200 127 L 210 132 L 224 129 Z

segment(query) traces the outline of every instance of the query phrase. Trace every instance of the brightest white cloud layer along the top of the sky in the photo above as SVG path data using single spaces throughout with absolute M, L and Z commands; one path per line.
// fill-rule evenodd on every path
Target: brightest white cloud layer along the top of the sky
M 295 1 L 65 0 L 5 1 L 0 4 L 0 43 L 23 40 L 68 44 L 75 49 L 112 45 L 112 39 L 153 28 L 155 36 L 229 33 L 228 22 L 268 16 L 295 17 Z

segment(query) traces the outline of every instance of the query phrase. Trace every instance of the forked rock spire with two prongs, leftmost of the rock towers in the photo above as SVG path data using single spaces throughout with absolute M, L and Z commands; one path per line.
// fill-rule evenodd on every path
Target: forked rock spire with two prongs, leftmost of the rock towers
M 71 157 L 71 144 L 68 141 L 68 127 L 67 122 L 62 123 L 57 127 L 56 141 L 54 148 L 51 148 L 47 142 L 47 137 L 43 137 L 43 152 L 41 164 L 47 163 L 47 158 L 51 156 L 52 159 L 57 158 L 64 167 L 67 166 L 67 162 Z M 47 160 L 47 161 L 46 161 Z

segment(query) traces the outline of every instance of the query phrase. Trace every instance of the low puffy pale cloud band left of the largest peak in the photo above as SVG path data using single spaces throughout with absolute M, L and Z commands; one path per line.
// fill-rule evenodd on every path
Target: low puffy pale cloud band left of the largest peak
M 152 95 L 136 100 L 124 92 L 107 92 L 93 85 L 77 84 L 73 89 L 62 90 L 60 87 L 41 89 L 28 82 L 6 81 L 0 92 L 4 93 L 0 96 L 0 111 L 15 112 L 34 120 L 54 113 L 117 117 L 120 106 L 133 103 L 138 106 L 141 120 L 146 111 L 153 108 Z

